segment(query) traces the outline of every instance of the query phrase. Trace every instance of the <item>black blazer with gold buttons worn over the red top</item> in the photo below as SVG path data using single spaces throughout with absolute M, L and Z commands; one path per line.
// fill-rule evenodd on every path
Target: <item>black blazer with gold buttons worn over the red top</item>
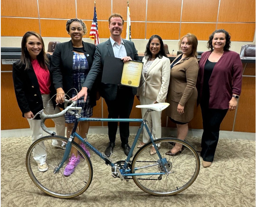
M 50 55 L 47 54 L 47 56 L 50 59 Z M 50 72 L 52 83 L 52 71 L 50 67 L 48 67 L 48 70 Z M 35 115 L 37 112 L 42 110 L 42 95 L 32 64 L 30 64 L 30 68 L 28 70 L 25 70 L 25 64 L 20 64 L 20 60 L 14 62 L 12 66 L 12 78 L 16 99 L 22 112 L 22 116 L 25 117 L 24 114 L 30 111 Z M 50 90 L 50 95 L 55 95 L 53 84 L 51 84 Z M 52 101 L 53 106 L 55 106 L 55 98 L 52 98 Z M 35 119 L 40 119 L 40 116 L 35 117 Z

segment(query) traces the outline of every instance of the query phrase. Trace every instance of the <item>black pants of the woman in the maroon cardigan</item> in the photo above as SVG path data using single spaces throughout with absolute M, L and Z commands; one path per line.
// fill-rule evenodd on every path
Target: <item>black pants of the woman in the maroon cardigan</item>
M 201 157 L 206 162 L 213 162 L 219 141 L 219 128 L 228 109 L 209 109 L 208 104 L 200 103 L 204 132 L 201 141 Z

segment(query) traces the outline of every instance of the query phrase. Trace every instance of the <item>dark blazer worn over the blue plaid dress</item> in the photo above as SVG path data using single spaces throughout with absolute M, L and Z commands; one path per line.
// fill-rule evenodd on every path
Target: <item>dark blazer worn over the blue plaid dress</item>
M 95 45 L 83 42 L 83 51 L 86 56 L 89 70 L 92 67 L 93 57 L 95 53 Z M 52 54 L 52 78 L 55 89 L 63 88 L 64 92 L 68 92 L 73 88 L 73 45 L 72 41 L 59 43 L 55 46 Z M 90 92 L 90 103 L 96 105 L 96 87 Z M 72 91 L 68 93 L 72 97 Z

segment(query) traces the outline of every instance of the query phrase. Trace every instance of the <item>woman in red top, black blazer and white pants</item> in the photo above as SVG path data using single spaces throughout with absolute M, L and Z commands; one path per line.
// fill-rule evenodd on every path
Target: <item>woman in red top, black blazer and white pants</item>
M 23 36 L 21 42 L 21 58 L 13 64 L 14 90 L 22 116 L 26 117 L 30 129 L 32 130 L 32 142 L 43 137 L 43 129 L 40 126 L 40 116 L 31 120 L 34 115 L 43 109 L 46 114 L 59 113 L 60 109 L 55 106 L 53 100 L 49 102 L 55 90 L 51 79 L 51 69 L 49 63 L 50 55 L 44 51 L 44 43 L 40 34 L 29 31 Z M 55 109 L 54 109 L 55 108 Z M 65 136 L 64 117 L 53 119 L 57 135 Z M 43 143 L 42 143 L 43 144 Z M 60 147 L 61 143 L 54 140 L 52 145 Z M 33 153 L 33 158 L 37 162 L 38 170 L 47 171 L 45 147 L 36 147 L 38 153 Z

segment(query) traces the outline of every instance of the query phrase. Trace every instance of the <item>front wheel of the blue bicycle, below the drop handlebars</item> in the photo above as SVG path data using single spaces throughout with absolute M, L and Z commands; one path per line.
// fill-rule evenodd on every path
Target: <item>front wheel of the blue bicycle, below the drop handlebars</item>
M 46 136 L 36 140 L 29 147 L 26 155 L 26 168 L 30 178 L 40 190 L 57 197 L 57 198 L 72 198 L 83 193 L 92 182 L 92 163 L 83 151 L 83 148 L 77 143 L 72 142 L 72 147 L 76 148 L 80 153 L 80 162 L 76 166 L 75 171 L 70 176 L 64 176 L 63 171 L 69 162 L 67 159 L 62 168 L 58 172 L 55 170 L 60 165 L 65 150 L 52 145 L 53 140 L 58 140 L 58 143 L 67 143 L 68 139 L 60 136 Z M 42 153 L 42 151 L 46 152 Z M 39 151 L 41 151 L 39 153 Z M 37 162 L 34 157 L 46 156 L 48 170 L 45 172 L 38 171 Z M 71 153 L 69 154 L 69 158 Z M 84 159 L 83 159 L 84 158 Z

